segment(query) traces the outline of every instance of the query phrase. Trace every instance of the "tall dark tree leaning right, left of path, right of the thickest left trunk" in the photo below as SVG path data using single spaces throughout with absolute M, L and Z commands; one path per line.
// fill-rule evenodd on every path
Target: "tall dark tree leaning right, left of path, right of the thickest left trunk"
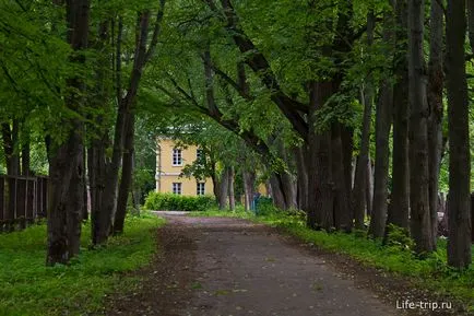
M 120 74 L 117 81 L 117 103 L 118 103 L 118 114 L 115 125 L 114 132 L 114 148 L 112 156 L 109 165 L 107 166 L 106 180 L 107 186 L 104 189 L 103 204 L 97 216 L 95 216 L 95 230 L 93 241 L 96 244 L 102 244 L 107 241 L 110 233 L 114 232 L 115 218 L 117 212 L 119 212 L 118 224 L 120 227 L 123 226 L 122 219 L 125 219 L 125 213 L 127 211 L 127 199 L 131 188 L 131 174 L 133 173 L 133 160 L 129 159 L 127 151 L 126 163 L 127 167 L 122 168 L 122 172 L 128 173 L 123 176 L 127 183 L 123 184 L 122 190 L 119 191 L 119 171 L 122 164 L 125 142 L 127 134 L 129 136 L 129 144 L 133 144 L 134 132 L 130 130 L 133 128 L 134 121 L 134 108 L 137 103 L 137 95 L 139 92 L 139 85 L 142 79 L 143 69 L 150 61 L 155 52 L 156 45 L 158 43 L 158 36 L 162 30 L 162 21 L 165 10 L 165 0 L 159 0 L 159 8 L 156 11 L 155 19 L 152 17 L 152 12 L 147 9 L 142 10 L 139 13 L 139 19 L 135 26 L 135 47 L 133 52 L 133 66 L 129 82 L 127 85 L 126 94 L 123 95 L 121 87 Z M 151 20 L 154 20 L 151 23 Z M 150 31 L 150 24 L 153 24 L 153 31 Z M 149 33 L 152 34 L 149 38 Z M 150 42 L 150 44 L 149 44 Z M 118 59 L 117 66 L 121 62 L 121 56 L 117 54 Z M 127 124 L 131 121 L 131 124 Z M 131 142 L 130 142 L 131 141 Z M 130 174 L 130 175 L 129 175 Z M 125 196 L 119 197 L 119 194 Z M 118 203 L 120 201 L 120 203 Z

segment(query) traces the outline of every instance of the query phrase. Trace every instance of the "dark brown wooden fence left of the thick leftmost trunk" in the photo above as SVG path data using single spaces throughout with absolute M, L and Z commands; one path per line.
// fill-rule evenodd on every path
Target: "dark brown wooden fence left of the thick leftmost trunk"
M 47 177 L 0 176 L 0 232 L 24 229 L 46 218 Z

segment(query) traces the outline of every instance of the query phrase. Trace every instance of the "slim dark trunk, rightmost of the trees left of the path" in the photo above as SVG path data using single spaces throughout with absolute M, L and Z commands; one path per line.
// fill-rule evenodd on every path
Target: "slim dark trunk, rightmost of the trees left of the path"
M 117 213 L 114 219 L 114 234 L 123 233 L 130 188 L 133 177 L 133 152 L 134 152 L 135 115 L 129 113 L 126 122 L 126 139 L 122 157 L 122 174 L 117 200 Z

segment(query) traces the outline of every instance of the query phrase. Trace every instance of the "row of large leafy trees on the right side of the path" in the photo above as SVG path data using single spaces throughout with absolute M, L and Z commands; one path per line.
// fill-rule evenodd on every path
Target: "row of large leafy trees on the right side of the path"
M 370 236 L 394 224 L 430 253 L 443 168 L 449 262 L 467 267 L 470 68 L 454 2 L 179 2 L 145 94 L 242 139 L 271 166 L 276 204 L 312 229 L 364 229 L 369 212 Z

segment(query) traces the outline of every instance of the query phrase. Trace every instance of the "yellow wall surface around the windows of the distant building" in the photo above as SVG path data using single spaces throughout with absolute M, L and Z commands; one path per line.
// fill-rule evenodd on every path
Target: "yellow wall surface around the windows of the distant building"
M 197 159 L 198 147 L 190 145 L 181 149 L 182 165 L 173 165 L 173 149 L 176 147 L 175 141 L 171 139 L 157 140 L 157 155 L 156 155 L 156 191 L 158 192 L 173 192 L 173 183 L 181 184 L 181 195 L 197 196 L 197 179 L 194 177 L 179 177 L 182 168 L 187 164 L 192 164 Z M 208 178 L 205 183 L 205 195 L 213 194 L 212 179 Z

